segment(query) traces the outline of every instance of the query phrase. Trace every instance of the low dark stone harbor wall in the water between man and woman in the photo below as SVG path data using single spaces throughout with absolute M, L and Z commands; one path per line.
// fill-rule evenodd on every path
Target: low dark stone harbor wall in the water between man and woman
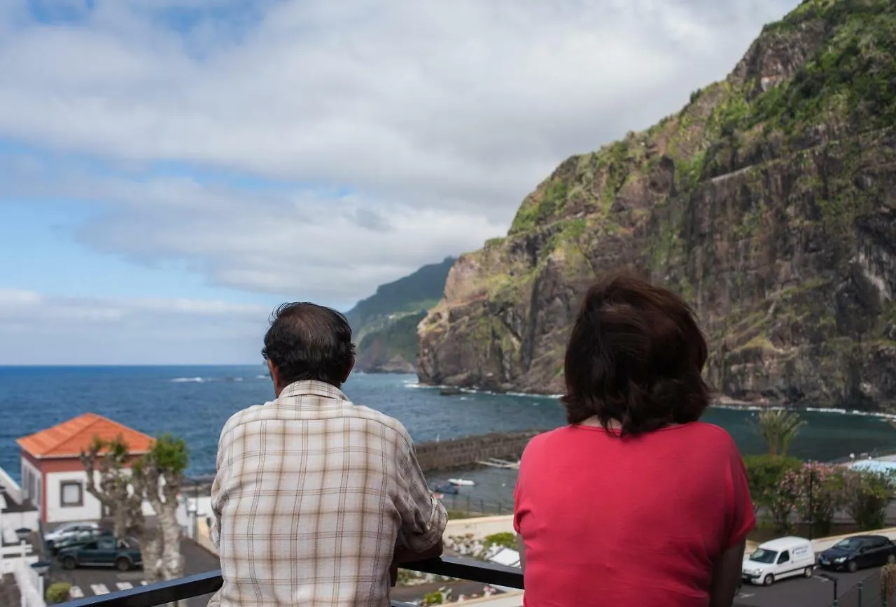
M 462 439 L 433 440 L 415 445 L 423 472 L 474 466 L 490 457 L 517 460 L 530 439 L 543 430 L 491 432 Z

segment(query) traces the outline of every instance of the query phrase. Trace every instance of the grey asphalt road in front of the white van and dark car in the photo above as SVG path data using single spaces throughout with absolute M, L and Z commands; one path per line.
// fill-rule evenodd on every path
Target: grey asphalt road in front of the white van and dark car
M 878 569 L 860 569 L 856 573 L 826 571 L 837 578 L 837 598 L 841 599 L 859 582 L 876 574 Z M 814 577 L 789 577 L 772 586 L 745 584 L 735 599 L 738 607 L 825 607 L 834 600 L 833 583 L 820 577 L 816 569 Z

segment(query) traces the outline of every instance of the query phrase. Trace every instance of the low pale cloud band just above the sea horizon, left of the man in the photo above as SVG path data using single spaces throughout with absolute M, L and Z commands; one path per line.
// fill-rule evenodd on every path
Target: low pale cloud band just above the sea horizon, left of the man
M 0 365 L 260 362 L 270 313 L 222 301 L 2 289 Z

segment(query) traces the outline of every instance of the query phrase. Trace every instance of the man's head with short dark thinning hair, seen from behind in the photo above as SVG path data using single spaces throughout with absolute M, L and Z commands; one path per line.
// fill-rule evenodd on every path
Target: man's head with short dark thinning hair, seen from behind
M 331 308 L 306 302 L 284 303 L 274 311 L 262 355 L 278 396 L 300 380 L 339 388 L 355 366 L 349 321 Z

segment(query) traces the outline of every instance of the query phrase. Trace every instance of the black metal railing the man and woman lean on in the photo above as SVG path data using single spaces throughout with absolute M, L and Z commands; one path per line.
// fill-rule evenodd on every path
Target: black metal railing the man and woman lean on
M 522 571 L 515 567 L 504 567 L 481 560 L 442 557 L 441 559 L 418 560 L 403 565 L 402 569 L 411 569 L 421 573 L 432 573 L 437 576 L 457 577 L 472 582 L 481 582 L 490 586 L 522 588 Z M 159 582 L 151 586 L 138 586 L 116 593 L 90 596 L 68 603 L 60 607 L 151 607 L 175 601 L 184 601 L 193 596 L 211 594 L 221 587 L 221 572 L 207 571 L 195 576 Z M 392 601 L 392 607 L 407 606 L 409 603 Z

